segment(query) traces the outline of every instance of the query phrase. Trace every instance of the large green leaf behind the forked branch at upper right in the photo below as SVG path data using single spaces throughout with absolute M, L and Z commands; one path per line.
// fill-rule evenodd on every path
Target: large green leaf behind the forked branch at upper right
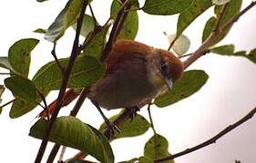
M 220 26 L 227 24 L 231 18 L 233 18 L 235 15 L 240 13 L 241 3 L 242 3 L 242 0 L 231 0 L 229 2 L 229 4 L 225 8 L 225 11 L 222 14 L 222 18 L 220 20 Z M 214 7 L 214 13 L 216 14 L 216 17 L 219 16 L 221 8 L 222 8 L 222 5 L 216 5 Z M 206 23 L 203 30 L 202 42 L 204 42 L 210 36 L 210 33 L 214 29 L 216 20 L 217 20 L 216 17 L 211 17 Z M 225 32 L 220 34 L 220 36 L 216 39 L 216 41 L 214 43 L 211 43 L 211 45 L 219 43 L 229 33 L 229 31 L 230 29 L 227 29 Z

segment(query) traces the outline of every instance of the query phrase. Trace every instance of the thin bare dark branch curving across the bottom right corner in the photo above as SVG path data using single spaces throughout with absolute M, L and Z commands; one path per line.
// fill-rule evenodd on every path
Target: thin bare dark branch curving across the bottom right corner
M 174 155 L 172 155 L 170 157 L 155 159 L 154 162 L 162 162 L 162 161 L 167 161 L 169 159 L 178 158 L 180 156 L 189 154 L 189 153 L 191 153 L 191 152 L 193 152 L 195 150 L 202 149 L 202 148 L 204 148 L 206 146 L 209 146 L 210 144 L 215 143 L 218 139 L 220 139 L 221 137 L 223 137 L 224 135 L 229 133 L 231 130 L 236 129 L 237 127 L 239 127 L 242 123 L 246 122 L 247 120 L 250 120 L 254 116 L 255 113 L 256 113 L 256 108 L 251 110 L 246 116 L 241 118 L 241 120 L 238 120 L 237 122 L 233 123 L 232 125 L 230 125 L 226 129 L 222 129 L 217 135 L 215 135 L 211 139 L 208 139 L 208 140 L 200 143 L 199 145 L 197 145 L 197 146 L 195 146 L 193 148 L 183 150 L 183 151 L 181 151 L 181 152 L 179 152 L 177 154 L 174 154 Z

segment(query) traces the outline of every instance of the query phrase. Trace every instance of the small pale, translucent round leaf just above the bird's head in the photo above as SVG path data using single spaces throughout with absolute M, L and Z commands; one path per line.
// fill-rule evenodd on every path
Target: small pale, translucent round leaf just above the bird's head
M 172 43 L 172 41 L 176 38 L 176 34 L 170 34 L 168 35 L 168 38 L 169 43 Z M 172 49 L 180 57 L 189 51 L 190 44 L 189 38 L 186 35 L 181 34 L 176 42 L 172 45 Z

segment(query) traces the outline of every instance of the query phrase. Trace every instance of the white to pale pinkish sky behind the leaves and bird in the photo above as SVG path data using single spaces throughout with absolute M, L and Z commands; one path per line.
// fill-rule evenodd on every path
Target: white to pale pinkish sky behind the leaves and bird
M 0 5 L 0 55 L 6 56 L 8 48 L 17 40 L 34 37 L 40 43 L 32 53 L 30 77 L 46 62 L 53 60 L 50 51 L 52 44 L 44 40 L 42 34 L 34 34 L 37 28 L 47 28 L 56 15 L 66 5 L 67 1 L 50 0 L 43 4 L 36 0 L 8 0 Z M 104 24 L 108 19 L 111 1 L 95 0 L 92 4 L 97 20 Z M 243 8 L 251 1 L 244 1 Z M 143 1 L 140 1 L 143 5 Z M 213 10 L 202 14 L 196 22 L 185 31 L 191 41 L 189 52 L 194 52 L 200 45 L 203 26 L 212 15 Z M 168 40 L 163 32 L 175 34 L 177 16 L 157 16 L 139 14 L 139 30 L 137 41 L 148 45 L 167 49 Z M 220 43 L 234 43 L 236 50 L 251 51 L 256 48 L 256 8 L 242 16 L 230 31 L 230 34 Z M 67 30 L 67 34 L 59 41 L 56 49 L 59 58 L 68 56 L 75 32 Z M 256 106 L 256 65 L 244 58 L 207 54 L 193 63 L 189 69 L 204 70 L 210 75 L 209 81 L 202 89 L 168 108 L 152 109 L 152 116 L 157 132 L 169 139 L 171 153 L 193 147 L 210 139 L 231 123 L 239 120 Z M 0 76 L 3 83 L 5 76 Z M 47 101 L 56 98 L 52 92 Z M 12 99 L 10 92 L 5 91 L 4 102 Z M 72 103 L 69 109 L 72 108 Z M 98 127 L 102 120 L 98 112 L 87 101 L 78 118 Z M 28 131 L 36 120 L 40 108 L 25 116 L 11 120 L 8 117 L 9 107 L 0 115 L 0 162 L 33 162 L 41 143 L 38 139 L 28 137 Z M 67 115 L 68 109 L 62 110 Z M 117 113 L 105 111 L 110 116 Z M 141 114 L 148 118 L 147 111 Z M 127 160 L 143 155 L 145 142 L 152 136 L 152 131 L 132 139 L 118 139 L 111 143 L 116 161 Z M 256 161 L 256 118 L 241 125 L 217 141 L 216 144 L 200 149 L 189 155 L 176 159 L 176 163 L 216 163 L 234 162 L 240 159 L 242 163 Z M 47 152 L 49 151 L 48 150 Z M 74 150 L 67 150 L 66 158 L 72 157 Z M 46 153 L 47 156 L 47 153 Z

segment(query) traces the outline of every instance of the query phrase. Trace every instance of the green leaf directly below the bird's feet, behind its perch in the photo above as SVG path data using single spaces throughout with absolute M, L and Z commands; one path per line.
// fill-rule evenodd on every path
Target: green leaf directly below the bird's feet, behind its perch
M 117 115 L 111 117 L 109 120 L 111 122 L 118 119 L 121 115 L 122 111 Z M 128 138 L 128 137 L 136 137 L 138 135 L 144 134 L 150 127 L 150 123 L 141 115 L 137 114 L 133 120 L 126 120 L 122 123 L 118 128 L 121 130 L 120 133 L 114 135 L 113 139 L 119 138 Z M 106 123 L 104 122 L 99 130 L 103 131 L 106 128 Z

